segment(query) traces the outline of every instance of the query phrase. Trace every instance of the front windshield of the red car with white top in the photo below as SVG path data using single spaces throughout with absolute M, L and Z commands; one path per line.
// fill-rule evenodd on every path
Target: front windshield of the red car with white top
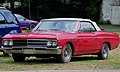
M 75 31 L 77 27 L 77 21 L 71 20 L 47 20 L 40 22 L 40 25 L 36 30 L 63 30 L 63 31 Z

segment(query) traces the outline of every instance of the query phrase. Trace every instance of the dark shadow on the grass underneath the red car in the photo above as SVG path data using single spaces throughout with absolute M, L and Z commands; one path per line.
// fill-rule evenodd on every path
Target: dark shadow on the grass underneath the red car
M 98 60 L 95 56 L 76 56 L 71 59 L 71 62 Z M 20 64 L 59 64 L 58 59 L 54 58 L 28 58 L 24 62 L 15 62 Z

